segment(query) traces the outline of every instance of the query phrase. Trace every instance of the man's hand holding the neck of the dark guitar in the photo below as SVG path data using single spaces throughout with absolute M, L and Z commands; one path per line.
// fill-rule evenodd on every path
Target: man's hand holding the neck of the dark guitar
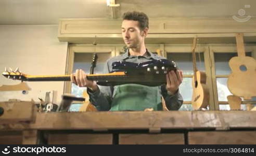
M 98 88 L 95 81 L 87 79 L 86 74 L 82 69 L 76 69 L 75 73 L 70 75 L 70 80 L 79 87 L 88 87 L 92 91 L 96 91 Z

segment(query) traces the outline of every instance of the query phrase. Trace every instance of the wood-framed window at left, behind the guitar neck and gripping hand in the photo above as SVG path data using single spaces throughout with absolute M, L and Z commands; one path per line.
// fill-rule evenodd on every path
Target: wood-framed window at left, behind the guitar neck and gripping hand
M 74 73 L 76 69 L 83 69 L 87 74 L 89 74 L 94 53 L 97 53 L 98 55 L 94 73 L 103 73 L 107 59 L 115 55 L 115 47 L 108 45 L 69 45 L 67 73 L 71 74 Z M 65 93 L 84 97 L 85 101 L 88 101 L 89 99 L 85 87 L 78 87 L 71 84 L 71 82 L 65 83 Z M 79 111 L 80 107 L 81 103 L 73 103 L 70 107 L 70 111 Z

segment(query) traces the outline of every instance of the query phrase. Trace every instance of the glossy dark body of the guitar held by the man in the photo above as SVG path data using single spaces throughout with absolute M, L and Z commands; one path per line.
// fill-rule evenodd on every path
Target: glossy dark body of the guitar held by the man
M 96 81 L 98 85 L 115 86 L 127 83 L 147 86 L 160 86 L 166 84 L 166 73 L 177 70 L 176 63 L 167 59 L 152 60 L 143 63 L 117 61 L 112 63 L 112 72 L 124 72 L 120 77 L 111 77 L 111 80 Z M 87 76 L 88 80 L 92 80 Z

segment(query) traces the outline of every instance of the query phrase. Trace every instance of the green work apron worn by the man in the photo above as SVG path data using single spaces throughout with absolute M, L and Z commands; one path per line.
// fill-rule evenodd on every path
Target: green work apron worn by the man
M 144 111 L 146 108 L 162 110 L 161 94 L 158 87 L 139 84 L 114 86 L 110 111 Z

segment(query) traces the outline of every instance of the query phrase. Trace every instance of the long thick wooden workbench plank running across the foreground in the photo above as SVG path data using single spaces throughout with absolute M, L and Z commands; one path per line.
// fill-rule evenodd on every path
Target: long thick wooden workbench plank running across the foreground
M 0 118 L 1 120 L 1 118 Z M 255 111 L 49 112 L 34 123 L 0 124 L 0 130 L 256 128 Z

